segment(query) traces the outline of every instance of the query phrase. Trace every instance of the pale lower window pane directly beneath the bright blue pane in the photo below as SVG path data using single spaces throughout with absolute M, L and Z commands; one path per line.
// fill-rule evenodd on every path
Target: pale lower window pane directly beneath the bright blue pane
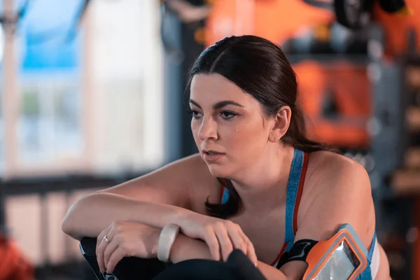
M 39 83 L 43 80 L 43 83 Z M 18 165 L 36 167 L 83 156 L 81 92 L 70 78 L 21 80 Z

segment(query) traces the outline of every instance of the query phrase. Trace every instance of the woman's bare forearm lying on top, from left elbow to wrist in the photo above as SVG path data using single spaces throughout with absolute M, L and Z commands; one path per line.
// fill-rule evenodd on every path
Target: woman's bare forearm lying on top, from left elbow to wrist
M 135 221 L 163 228 L 189 210 L 167 204 L 133 200 L 122 195 L 94 193 L 73 204 L 62 223 L 71 237 L 97 237 L 114 221 Z

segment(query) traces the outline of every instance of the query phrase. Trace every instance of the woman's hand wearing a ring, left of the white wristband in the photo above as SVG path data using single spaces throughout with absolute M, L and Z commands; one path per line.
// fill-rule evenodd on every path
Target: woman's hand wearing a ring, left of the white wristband
M 102 273 L 112 273 L 124 257 L 155 258 L 159 235 L 160 230 L 142 223 L 112 223 L 97 239 L 99 269 Z

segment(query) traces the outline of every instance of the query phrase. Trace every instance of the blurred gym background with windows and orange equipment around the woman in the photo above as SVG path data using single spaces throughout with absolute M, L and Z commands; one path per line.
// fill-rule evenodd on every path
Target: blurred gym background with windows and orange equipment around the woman
M 94 279 L 78 199 L 196 152 L 186 72 L 219 39 L 283 48 L 309 135 L 370 174 L 393 279 L 420 279 L 420 1 L 3 0 L 0 280 Z

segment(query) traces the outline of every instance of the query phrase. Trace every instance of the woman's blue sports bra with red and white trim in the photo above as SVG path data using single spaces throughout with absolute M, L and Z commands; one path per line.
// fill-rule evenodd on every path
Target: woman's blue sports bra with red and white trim
M 295 148 L 286 190 L 286 234 L 284 236 L 283 247 L 271 264 L 276 268 L 280 268 L 282 265 L 279 260 L 283 253 L 290 251 L 295 243 L 295 235 L 297 232 L 297 211 L 299 210 L 300 200 L 302 198 L 304 177 L 306 176 L 308 161 L 308 153 L 304 153 Z M 228 202 L 228 200 L 228 189 L 223 186 L 221 203 L 224 204 Z M 376 276 L 377 271 L 379 270 L 379 249 L 377 248 L 376 232 L 374 232 L 369 247 L 367 255 L 367 262 L 369 265 L 367 265 L 366 269 L 362 272 L 362 274 L 360 274 L 358 280 L 374 279 L 374 276 Z

